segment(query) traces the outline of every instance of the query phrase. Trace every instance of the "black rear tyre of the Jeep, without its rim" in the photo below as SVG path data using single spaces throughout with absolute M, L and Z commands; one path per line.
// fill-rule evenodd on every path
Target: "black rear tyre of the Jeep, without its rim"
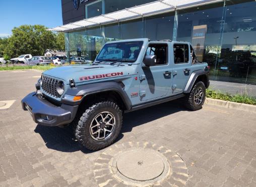
M 194 98 L 195 98 L 195 94 L 196 91 L 201 88 L 203 90 L 204 96 L 203 96 L 203 100 L 200 104 L 196 104 Z M 184 101 L 185 101 L 185 107 L 189 110 L 200 110 L 205 102 L 205 98 L 206 98 L 206 88 L 205 88 L 205 84 L 202 81 L 197 82 L 193 88 L 191 89 L 190 93 L 187 94 L 184 97 Z

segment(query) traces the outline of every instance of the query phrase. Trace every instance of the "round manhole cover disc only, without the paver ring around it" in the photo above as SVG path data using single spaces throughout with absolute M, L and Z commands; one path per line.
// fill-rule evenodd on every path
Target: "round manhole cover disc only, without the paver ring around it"
M 139 181 L 155 179 L 163 173 L 165 167 L 170 167 L 163 155 L 145 148 L 123 151 L 113 164 L 116 164 L 117 170 L 123 176 Z

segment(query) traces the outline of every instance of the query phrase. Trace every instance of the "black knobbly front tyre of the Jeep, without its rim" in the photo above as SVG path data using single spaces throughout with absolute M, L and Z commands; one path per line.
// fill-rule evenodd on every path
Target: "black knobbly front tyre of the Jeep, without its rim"
M 100 112 L 108 111 L 111 112 L 115 117 L 115 127 L 113 132 L 105 140 L 95 140 L 90 134 L 90 124 L 94 117 Z M 100 101 L 96 104 L 91 105 L 81 116 L 77 128 L 76 128 L 76 138 L 81 145 L 90 149 L 98 150 L 103 149 L 117 138 L 120 133 L 122 126 L 122 111 L 115 102 L 112 101 Z

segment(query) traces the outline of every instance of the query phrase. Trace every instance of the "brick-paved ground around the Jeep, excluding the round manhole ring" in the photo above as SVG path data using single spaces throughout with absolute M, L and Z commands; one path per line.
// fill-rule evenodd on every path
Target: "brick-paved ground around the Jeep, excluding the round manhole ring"
M 36 71 L 0 72 L 0 186 L 97 186 L 94 162 L 105 150 L 80 148 L 69 128 L 35 124 L 20 100 L 35 90 Z M 256 114 L 170 102 L 127 113 L 115 144 L 151 142 L 176 152 L 186 186 L 256 186 Z M 112 145 L 115 146 L 115 145 Z

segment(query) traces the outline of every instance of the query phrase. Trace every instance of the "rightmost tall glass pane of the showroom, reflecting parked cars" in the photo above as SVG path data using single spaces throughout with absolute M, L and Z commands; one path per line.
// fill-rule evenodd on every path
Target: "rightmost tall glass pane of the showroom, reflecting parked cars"
M 255 8 L 255 1 L 227 2 L 218 79 L 256 84 Z

